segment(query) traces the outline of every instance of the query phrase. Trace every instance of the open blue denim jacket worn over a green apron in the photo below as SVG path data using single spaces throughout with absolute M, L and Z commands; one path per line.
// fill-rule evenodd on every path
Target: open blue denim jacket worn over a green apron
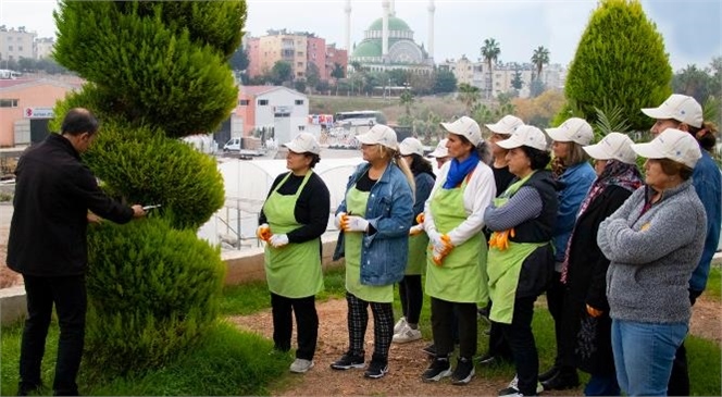
M 356 185 L 371 164 L 362 163 L 346 185 L 346 191 Z M 346 199 L 336 213 L 346 211 Z M 390 285 L 403 278 L 409 255 L 409 227 L 413 219 L 411 186 L 403 172 L 389 164 L 384 175 L 371 188 L 365 219 L 375 233 L 363 235 L 361 248 L 361 283 Z M 338 234 L 334 260 L 345 256 L 344 232 Z

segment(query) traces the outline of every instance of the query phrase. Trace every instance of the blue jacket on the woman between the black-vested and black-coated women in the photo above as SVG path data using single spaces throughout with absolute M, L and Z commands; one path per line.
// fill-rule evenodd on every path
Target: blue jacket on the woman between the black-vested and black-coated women
M 567 241 L 572 234 L 576 213 L 580 210 L 582 200 L 586 197 L 589 186 L 597 174 L 588 162 L 582 162 L 570 166 L 561 174 L 557 181 L 557 197 L 559 198 L 559 212 L 557 212 L 557 222 L 553 228 L 555 261 L 564 261 L 564 251 Z

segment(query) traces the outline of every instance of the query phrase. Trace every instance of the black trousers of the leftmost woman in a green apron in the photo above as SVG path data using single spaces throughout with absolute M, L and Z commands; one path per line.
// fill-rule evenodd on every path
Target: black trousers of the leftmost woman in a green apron
M 319 314 L 315 310 L 315 296 L 306 298 L 286 298 L 271 293 L 273 311 L 273 344 L 282 351 L 290 350 L 290 337 L 294 331 L 291 312 L 296 314 L 298 349 L 296 358 L 313 360 L 319 339 Z

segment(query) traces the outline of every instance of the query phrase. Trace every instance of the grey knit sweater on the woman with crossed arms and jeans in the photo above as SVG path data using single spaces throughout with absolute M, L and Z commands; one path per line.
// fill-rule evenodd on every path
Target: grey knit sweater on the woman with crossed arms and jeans
M 597 244 L 611 261 L 607 299 L 612 319 L 686 323 L 687 286 L 705 244 L 705 208 L 692 179 L 640 215 L 651 189 L 640 187 L 599 225 Z

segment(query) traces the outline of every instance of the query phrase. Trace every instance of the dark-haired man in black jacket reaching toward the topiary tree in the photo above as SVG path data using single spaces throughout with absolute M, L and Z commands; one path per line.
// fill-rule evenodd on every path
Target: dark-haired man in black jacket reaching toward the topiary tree
M 87 308 L 87 224 L 98 221 L 94 214 L 116 223 L 146 214 L 139 204 L 127 207 L 108 197 L 80 162 L 80 153 L 92 144 L 98 127 L 88 110 L 72 109 L 61 134 L 50 134 L 17 163 L 8 266 L 23 274 L 27 297 L 18 395 L 41 385 L 40 363 L 53 303 L 60 325 L 53 390 L 55 395 L 78 394 L 75 380 Z

